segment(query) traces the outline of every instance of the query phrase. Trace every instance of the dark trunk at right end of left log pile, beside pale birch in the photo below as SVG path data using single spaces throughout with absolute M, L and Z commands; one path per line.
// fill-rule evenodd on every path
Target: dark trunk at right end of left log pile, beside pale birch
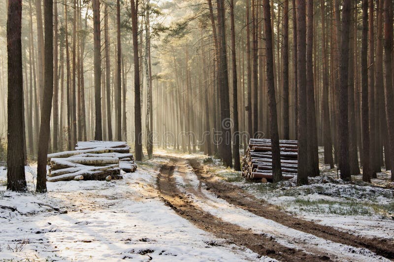
M 141 90 L 139 81 L 138 59 L 138 0 L 131 0 L 132 44 L 134 54 L 134 126 L 135 126 L 135 160 L 141 161 L 142 154 L 142 122 L 141 122 Z

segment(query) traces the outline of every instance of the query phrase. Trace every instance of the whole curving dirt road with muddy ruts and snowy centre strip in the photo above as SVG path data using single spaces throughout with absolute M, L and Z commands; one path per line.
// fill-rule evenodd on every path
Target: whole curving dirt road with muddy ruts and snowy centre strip
M 164 201 L 197 228 L 280 261 L 394 258 L 394 244 L 295 218 L 202 170 L 197 159 L 169 157 L 158 176 Z M 381 256 L 381 257 L 380 257 Z

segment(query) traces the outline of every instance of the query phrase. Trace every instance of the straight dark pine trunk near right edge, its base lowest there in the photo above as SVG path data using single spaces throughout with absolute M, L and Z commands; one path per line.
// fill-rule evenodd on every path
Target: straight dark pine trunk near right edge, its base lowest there
M 361 122 L 362 122 L 362 181 L 371 182 L 372 168 L 369 158 L 369 120 L 368 120 L 368 0 L 362 0 L 362 38 L 361 38 Z

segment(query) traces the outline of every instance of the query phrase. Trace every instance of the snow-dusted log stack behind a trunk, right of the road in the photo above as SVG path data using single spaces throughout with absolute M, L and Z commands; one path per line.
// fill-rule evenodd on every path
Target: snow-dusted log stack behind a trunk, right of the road
M 280 162 L 284 179 L 297 174 L 297 141 L 279 140 Z M 272 181 L 272 148 L 270 139 L 251 138 L 242 159 L 242 176 Z

